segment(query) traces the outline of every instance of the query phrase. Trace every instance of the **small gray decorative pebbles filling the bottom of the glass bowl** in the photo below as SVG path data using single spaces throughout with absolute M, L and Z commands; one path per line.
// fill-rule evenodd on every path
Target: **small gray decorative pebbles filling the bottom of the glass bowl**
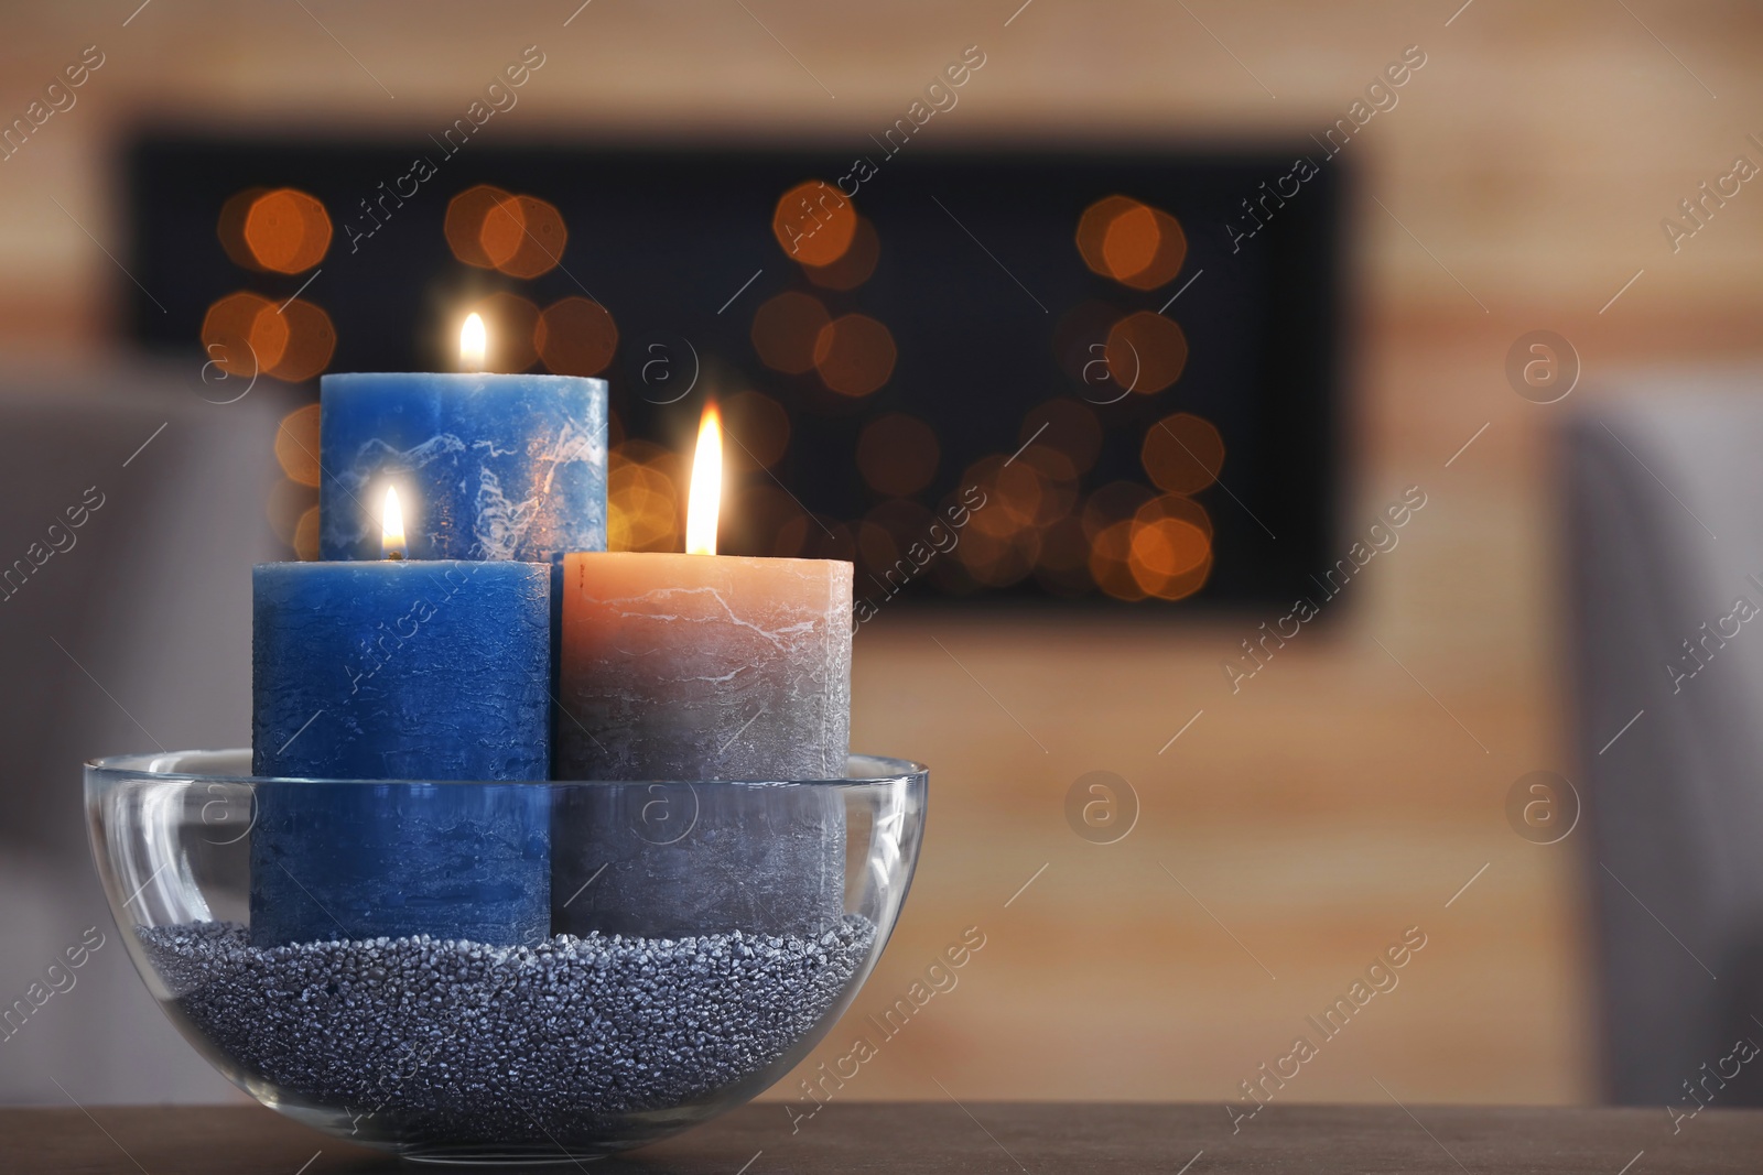
M 236 923 L 138 930 L 175 1008 L 296 1101 L 363 1138 L 547 1142 L 703 1099 L 776 1062 L 874 942 L 557 935 L 534 948 L 368 939 L 261 950 Z

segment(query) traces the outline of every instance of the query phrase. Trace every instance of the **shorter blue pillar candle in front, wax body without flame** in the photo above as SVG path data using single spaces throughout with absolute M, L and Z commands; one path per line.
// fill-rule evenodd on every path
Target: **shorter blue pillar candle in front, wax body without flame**
M 550 567 L 254 569 L 256 946 L 550 934 Z

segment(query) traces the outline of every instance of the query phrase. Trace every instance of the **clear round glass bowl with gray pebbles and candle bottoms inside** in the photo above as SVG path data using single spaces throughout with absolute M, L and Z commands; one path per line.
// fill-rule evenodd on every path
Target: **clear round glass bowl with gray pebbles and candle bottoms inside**
M 446 1163 L 575 1161 L 730 1110 L 869 976 L 927 772 L 252 779 L 249 750 L 86 763 L 99 876 L 160 1008 L 233 1083 Z

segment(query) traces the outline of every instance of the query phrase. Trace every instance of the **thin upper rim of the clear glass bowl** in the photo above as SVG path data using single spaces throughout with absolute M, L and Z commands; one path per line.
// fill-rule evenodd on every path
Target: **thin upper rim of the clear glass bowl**
M 85 768 L 93 782 L 120 782 L 152 775 L 155 779 L 187 780 L 196 784 L 421 784 L 434 787 L 497 787 L 497 786 L 547 786 L 547 787 L 649 787 L 649 786 L 693 786 L 693 787 L 776 787 L 792 786 L 829 786 L 829 787 L 894 787 L 908 780 L 922 782 L 929 770 L 911 759 L 890 759 L 887 756 L 852 754 L 848 756 L 846 775 L 839 779 L 316 779 L 316 777 L 279 777 L 279 775 L 215 775 L 206 772 L 185 772 L 169 765 L 180 761 L 201 761 L 219 757 L 250 757 L 243 747 L 217 750 L 150 750 L 136 754 L 113 754 L 99 759 L 86 759 Z

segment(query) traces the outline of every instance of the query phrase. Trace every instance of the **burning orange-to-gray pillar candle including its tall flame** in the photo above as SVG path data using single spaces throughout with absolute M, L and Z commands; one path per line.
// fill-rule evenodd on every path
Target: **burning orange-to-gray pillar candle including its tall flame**
M 564 557 L 559 779 L 844 775 L 852 564 L 718 555 L 719 509 L 712 407 L 693 460 L 686 553 Z M 776 826 L 760 828 L 746 814 L 758 805 L 721 789 L 578 789 L 552 828 L 552 927 L 825 930 L 844 902 L 843 805 L 837 791 L 800 787 L 770 805 Z

